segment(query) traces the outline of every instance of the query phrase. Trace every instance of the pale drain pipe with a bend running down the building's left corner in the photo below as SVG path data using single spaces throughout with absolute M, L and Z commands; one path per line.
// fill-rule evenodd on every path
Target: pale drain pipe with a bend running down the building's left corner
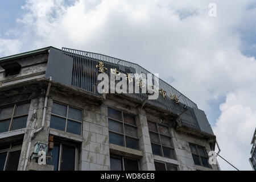
M 46 122 L 47 102 L 48 102 L 48 96 L 49 96 L 49 90 L 51 88 L 51 84 L 52 84 L 52 77 L 49 77 L 49 84 L 48 84 L 48 88 L 47 88 L 47 92 L 46 92 L 46 98 L 44 100 L 44 111 L 43 111 L 42 126 L 40 127 L 40 129 L 38 129 L 34 132 L 34 130 L 35 130 L 35 121 L 36 121 L 36 117 L 34 117 L 34 121 L 33 121 L 32 126 L 31 126 L 30 139 L 29 139 L 29 143 L 28 143 L 28 147 L 27 147 L 27 155 L 26 155 L 26 160 L 25 160 L 23 171 L 26 171 L 27 164 L 28 164 L 28 159 L 30 158 L 31 140 L 35 137 L 36 133 L 38 133 L 39 131 L 44 129 L 44 123 Z M 35 114 L 35 110 L 34 110 L 34 114 Z

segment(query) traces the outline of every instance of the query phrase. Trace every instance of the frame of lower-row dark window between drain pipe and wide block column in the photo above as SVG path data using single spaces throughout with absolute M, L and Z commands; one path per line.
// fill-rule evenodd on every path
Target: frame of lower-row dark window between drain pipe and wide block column
M 73 143 L 69 143 L 69 142 L 63 142 L 61 140 L 55 140 L 54 143 L 57 143 L 60 145 L 59 148 L 59 158 L 58 158 L 58 167 L 57 167 L 57 171 L 61 171 L 60 170 L 60 166 L 61 166 L 61 157 L 62 157 L 62 153 L 63 153 L 63 144 L 67 145 L 67 146 L 72 146 L 75 147 L 75 171 L 78 170 L 78 166 L 79 166 L 79 144 L 73 144 Z M 51 164 L 49 164 L 51 165 Z

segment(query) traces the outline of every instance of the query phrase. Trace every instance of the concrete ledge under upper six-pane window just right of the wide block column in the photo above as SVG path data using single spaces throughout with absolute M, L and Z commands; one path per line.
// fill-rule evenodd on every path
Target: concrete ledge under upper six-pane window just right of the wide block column
M 126 148 L 122 146 L 118 146 L 116 144 L 109 144 L 110 155 L 120 155 L 126 156 L 129 158 L 137 158 L 140 159 L 143 157 L 143 152 L 140 150 L 134 150 L 131 148 Z

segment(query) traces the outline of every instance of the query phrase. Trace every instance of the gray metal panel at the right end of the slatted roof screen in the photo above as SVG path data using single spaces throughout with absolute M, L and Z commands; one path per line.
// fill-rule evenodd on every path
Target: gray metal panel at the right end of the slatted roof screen
M 212 127 L 210 127 L 210 124 L 208 122 L 207 116 L 205 115 L 204 111 L 197 109 L 196 107 L 193 107 L 193 111 L 196 115 L 196 119 L 199 124 L 200 130 L 214 135 L 212 131 Z

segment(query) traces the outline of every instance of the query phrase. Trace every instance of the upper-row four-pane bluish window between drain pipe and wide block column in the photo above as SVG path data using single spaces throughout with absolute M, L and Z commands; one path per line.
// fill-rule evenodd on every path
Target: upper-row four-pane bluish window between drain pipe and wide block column
M 82 110 L 53 102 L 50 127 L 81 135 Z

